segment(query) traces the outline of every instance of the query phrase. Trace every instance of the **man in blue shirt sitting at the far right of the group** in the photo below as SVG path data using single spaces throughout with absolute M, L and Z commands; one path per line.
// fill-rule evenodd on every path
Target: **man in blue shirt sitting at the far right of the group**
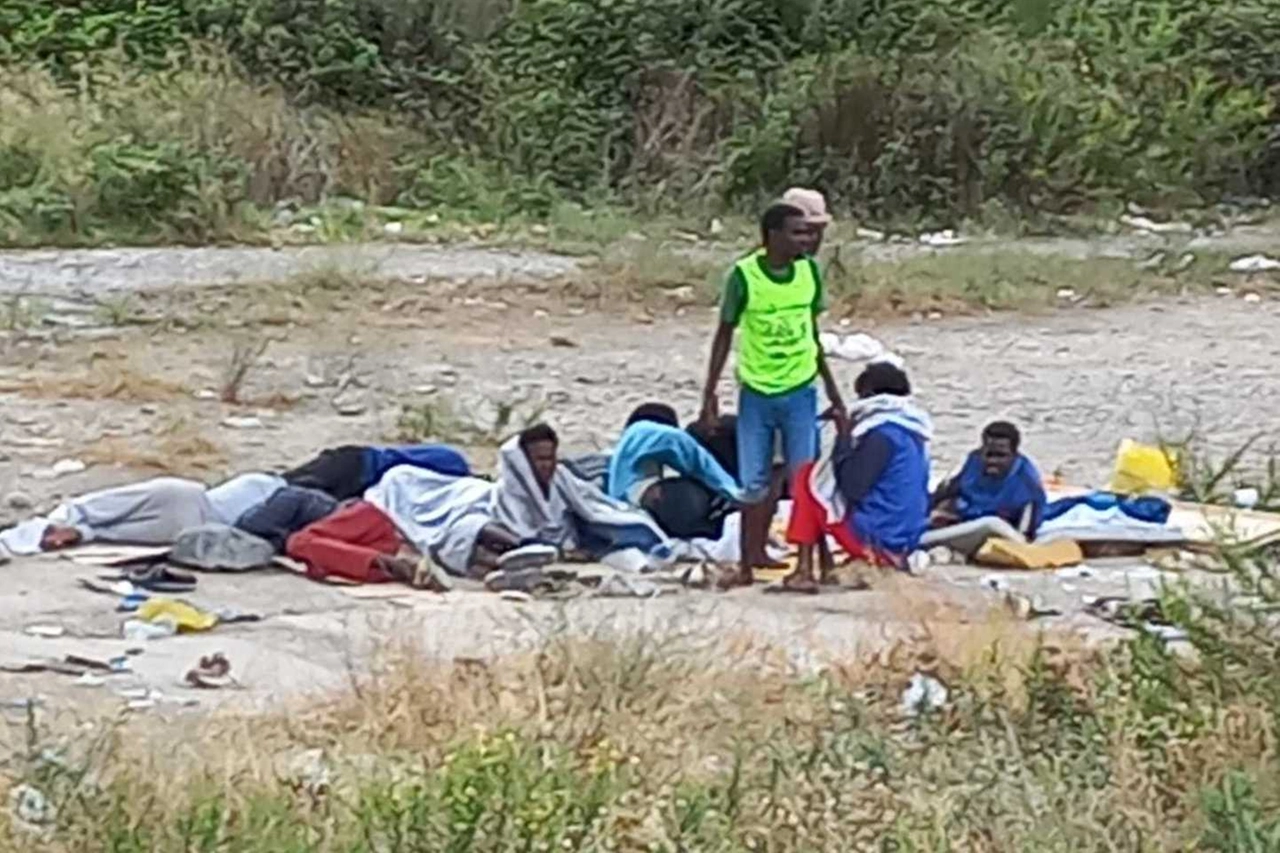
M 1044 517 L 1043 479 L 1020 452 L 1021 434 L 997 420 L 982 430 L 982 446 L 934 489 L 933 528 L 925 547 L 947 546 L 966 557 L 992 538 L 1030 542 Z

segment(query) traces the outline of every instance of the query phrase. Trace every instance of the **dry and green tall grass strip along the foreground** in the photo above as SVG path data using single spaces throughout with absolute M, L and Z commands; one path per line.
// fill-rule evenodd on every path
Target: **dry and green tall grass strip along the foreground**
M 1280 674 L 1253 660 L 1275 626 L 1196 619 L 1197 658 L 1148 635 L 1089 652 L 960 624 L 819 670 L 654 634 L 553 635 L 490 662 L 389 648 L 349 692 L 280 716 L 70 742 L 33 721 L 10 776 L 56 818 L 0 845 L 1280 849 Z M 915 672 L 947 684 L 945 707 L 904 711 Z

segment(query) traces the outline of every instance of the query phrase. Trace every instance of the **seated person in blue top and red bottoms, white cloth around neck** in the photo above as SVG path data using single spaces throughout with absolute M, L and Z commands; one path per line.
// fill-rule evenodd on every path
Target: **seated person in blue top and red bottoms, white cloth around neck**
M 904 567 L 929 521 L 929 441 L 933 424 L 911 401 L 897 366 L 876 362 L 859 374 L 858 402 L 844 418 L 831 455 L 803 466 L 792 480 L 787 540 L 800 547 L 786 592 L 817 593 L 814 546 L 836 539 L 851 560 Z M 823 556 L 823 581 L 833 565 Z

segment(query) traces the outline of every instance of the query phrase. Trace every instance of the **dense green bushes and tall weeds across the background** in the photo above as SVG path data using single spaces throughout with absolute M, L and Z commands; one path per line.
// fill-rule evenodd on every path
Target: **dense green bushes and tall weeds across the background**
M 1280 0 L 14 0 L 0 67 L 9 243 L 342 199 L 500 222 L 806 183 L 955 224 L 1280 181 Z

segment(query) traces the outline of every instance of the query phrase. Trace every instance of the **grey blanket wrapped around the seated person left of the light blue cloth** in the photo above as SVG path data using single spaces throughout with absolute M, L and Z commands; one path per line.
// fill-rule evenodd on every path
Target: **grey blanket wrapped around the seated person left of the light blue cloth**
M 550 494 L 543 494 L 517 438 L 502 446 L 498 469 L 493 520 L 518 539 L 582 549 L 595 557 L 623 548 L 659 558 L 672 553 L 671 542 L 649 514 L 609 498 L 564 465 L 556 469 Z

